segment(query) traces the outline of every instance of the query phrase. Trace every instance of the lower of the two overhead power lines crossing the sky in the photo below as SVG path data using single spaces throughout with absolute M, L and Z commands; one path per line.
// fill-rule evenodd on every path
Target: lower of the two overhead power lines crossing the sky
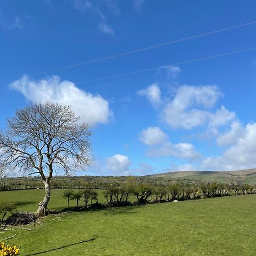
M 217 58 L 217 57 L 232 55 L 232 54 L 241 53 L 241 52 L 253 51 L 253 50 L 256 50 L 256 47 L 247 48 L 247 49 L 242 49 L 242 50 L 233 51 L 233 52 L 225 52 L 225 53 L 221 53 L 221 54 L 217 54 L 217 55 L 210 55 L 210 56 L 206 56 L 206 57 L 201 57 L 201 58 L 199 58 L 199 59 L 185 60 L 185 61 L 181 61 L 181 62 L 177 62 L 177 63 L 167 64 L 167 65 L 161 65 L 161 66 L 154 67 L 154 68 L 140 69 L 140 70 L 138 70 L 138 71 L 133 71 L 133 72 L 128 72 L 128 73 L 122 73 L 122 74 L 113 75 L 113 76 L 101 77 L 101 78 L 99 78 L 99 79 L 90 79 L 90 80 L 85 80 L 85 81 L 80 81 L 80 82 L 74 82 L 74 84 L 76 84 L 76 85 L 77 85 L 77 84 L 85 84 L 85 83 L 87 83 L 87 82 L 96 82 L 96 81 L 102 81 L 102 80 L 107 80 L 107 79 L 113 79 L 113 78 L 116 78 L 116 77 L 128 76 L 128 75 L 134 75 L 134 74 L 142 73 L 142 72 L 146 72 L 146 71 L 152 71 L 152 70 L 156 70 L 156 69 L 163 68 L 163 67 L 167 67 L 167 66 L 171 67 L 171 66 L 175 66 L 175 65 L 193 63 L 193 62 L 197 62 L 197 61 L 201 61 L 201 60 L 214 59 L 214 58 Z M 39 90 L 47 90 L 47 89 L 59 88 L 59 87 L 64 87 L 64 86 L 68 86 L 68 85 L 52 86 L 52 87 L 49 87 L 49 88 L 43 88 L 43 89 L 33 90 L 33 92 L 37 92 L 37 91 L 39 91 Z

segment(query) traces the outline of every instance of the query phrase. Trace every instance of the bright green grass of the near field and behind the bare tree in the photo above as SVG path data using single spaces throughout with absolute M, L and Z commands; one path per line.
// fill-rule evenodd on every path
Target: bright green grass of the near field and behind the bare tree
M 51 209 L 66 206 L 61 193 L 53 190 Z M 0 192 L 30 211 L 42 196 Z M 255 255 L 255 212 L 256 195 L 228 196 L 52 215 L 0 236 L 16 234 L 9 242 L 22 246 L 21 255 Z

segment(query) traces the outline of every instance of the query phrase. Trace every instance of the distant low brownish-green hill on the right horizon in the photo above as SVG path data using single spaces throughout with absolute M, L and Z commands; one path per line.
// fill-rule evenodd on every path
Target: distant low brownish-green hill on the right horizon
M 191 180 L 256 184 L 256 168 L 240 171 L 176 171 L 143 176 L 155 180 Z

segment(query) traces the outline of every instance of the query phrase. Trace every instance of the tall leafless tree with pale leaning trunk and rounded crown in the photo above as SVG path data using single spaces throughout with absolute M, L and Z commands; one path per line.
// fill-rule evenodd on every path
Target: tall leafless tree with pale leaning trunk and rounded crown
M 90 165 L 88 124 L 80 123 L 70 106 L 47 102 L 31 104 L 7 119 L 0 132 L 0 152 L 6 163 L 28 175 L 42 177 L 46 194 L 38 213 L 46 214 L 53 170 L 72 174 Z

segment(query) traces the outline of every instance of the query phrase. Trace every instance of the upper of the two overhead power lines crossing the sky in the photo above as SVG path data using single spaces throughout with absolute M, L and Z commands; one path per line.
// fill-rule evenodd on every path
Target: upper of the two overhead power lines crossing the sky
M 181 38 L 181 39 L 177 39 L 177 40 L 173 40 L 173 41 L 169 41 L 169 42 L 165 42 L 165 43 L 161 43 L 161 44 L 156 44 L 154 46 L 148 46 L 148 47 L 144 47 L 144 48 L 139 48 L 139 49 L 135 49 L 133 51 L 122 52 L 122 53 L 118 53 L 118 54 L 115 54 L 115 55 L 101 57 L 99 59 L 89 60 L 89 61 L 85 61 L 85 62 L 82 62 L 82 63 L 77 63 L 77 64 L 73 64 L 73 65 L 67 65 L 67 66 L 59 67 L 59 68 L 55 68 L 55 69 L 48 69 L 47 71 L 38 72 L 38 73 L 31 73 L 31 74 L 28 74 L 28 75 L 29 76 L 37 76 L 37 75 L 43 75 L 43 74 L 49 73 L 49 72 L 60 71 L 60 70 L 63 70 L 63 69 L 68 69 L 68 68 L 73 68 L 73 67 L 79 67 L 81 65 L 86 65 L 86 64 L 90 64 L 90 63 L 96 63 L 96 62 L 99 62 L 99 61 L 102 61 L 102 60 L 109 60 L 109 59 L 113 59 L 115 57 L 121 57 L 121 56 L 129 55 L 129 54 L 132 54 L 132 53 L 146 51 L 148 49 L 154 49 L 154 48 L 158 48 L 158 47 L 162 47 L 162 46 L 167 46 L 167 45 L 170 45 L 170 44 L 179 43 L 179 42 L 183 42 L 183 41 L 186 41 L 186 40 L 200 38 L 201 36 L 207 36 L 207 35 L 216 34 L 218 32 L 222 32 L 222 31 L 232 30 L 232 29 L 238 28 L 238 27 L 249 26 L 249 25 L 255 24 L 255 23 L 256 23 L 256 20 L 253 21 L 253 22 L 238 24 L 238 25 L 232 26 L 232 27 L 221 28 L 220 30 L 210 31 L 210 32 L 207 32 L 207 33 L 204 33 L 204 34 L 199 34 L 199 35 L 195 35 L 195 36 L 189 36 L 188 38 Z M 18 78 L 16 78 L 16 79 L 18 79 Z M 6 81 L 11 81 L 11 80 L 15 80 L 15 79 L 9 79 L 9 80 L 4 80 L 4 81 L 0 81 L 0 82 L 6 82 Z

